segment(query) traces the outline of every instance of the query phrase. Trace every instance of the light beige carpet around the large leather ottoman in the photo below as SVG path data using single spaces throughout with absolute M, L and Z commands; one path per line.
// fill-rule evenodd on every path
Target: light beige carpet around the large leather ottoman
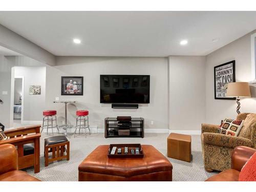
M 56 135 L 56 134 L 55 134 Z M 110 143 L 141 143 L 152 144 L 166 156 L 166 138 L 168 134 L 145 134 L 144 138 L 108 138 L 103 134 L 91 134 L 87 137 L 81 135 L 69 135 L 70 161 L 60 160 L 44 165 L 44 138 L 51 135 L 42 134 L 40 142 L 40 172 L 34 174 L 33 168 L 26 171 L 42 181 L 78 181 L 78 165 L 98 145 Z M 173 164 L 173 181 L 204 181 L 216 173 L 207 173 L 204 170 L 200 135 L 192 136 L 193 160 L 188 163 L 172 158 L 168 160 Z

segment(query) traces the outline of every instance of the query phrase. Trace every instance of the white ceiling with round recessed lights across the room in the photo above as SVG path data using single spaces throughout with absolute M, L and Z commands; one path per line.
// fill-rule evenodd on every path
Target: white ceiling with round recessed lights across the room
M 206 55 L 256 29 L 256 12 L 0 12 L 0 24 L 54 55 Z

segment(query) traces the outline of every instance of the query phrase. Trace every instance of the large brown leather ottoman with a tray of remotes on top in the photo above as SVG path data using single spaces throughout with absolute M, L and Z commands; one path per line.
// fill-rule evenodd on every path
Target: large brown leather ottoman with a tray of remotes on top
M 143 158 L 108 158 L 98 146 L 78 166 L 79 181 L 172 181 L 173 165 L 152 145 L 141 145 Z

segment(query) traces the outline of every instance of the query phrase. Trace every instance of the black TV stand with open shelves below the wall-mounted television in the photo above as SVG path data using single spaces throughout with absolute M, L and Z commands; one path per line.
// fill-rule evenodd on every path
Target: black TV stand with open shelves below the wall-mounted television
M 105 138 L 109 137 L 144 137 L 144 118 L 133 117 L 130 126 L 120 126 L 116 117 L 105 118 Z M 129 135 L 119 135 L 118 130 L 130 130 Z

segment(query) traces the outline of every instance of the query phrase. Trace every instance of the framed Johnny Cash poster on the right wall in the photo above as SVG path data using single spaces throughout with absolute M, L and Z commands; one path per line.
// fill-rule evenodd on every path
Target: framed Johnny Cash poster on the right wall
M 236 62 L 234 60 L 214 67 L 214 97 L 215 99 L 236 99 L 236 97 L 226 97 L 226 83 L 236 82 Z

